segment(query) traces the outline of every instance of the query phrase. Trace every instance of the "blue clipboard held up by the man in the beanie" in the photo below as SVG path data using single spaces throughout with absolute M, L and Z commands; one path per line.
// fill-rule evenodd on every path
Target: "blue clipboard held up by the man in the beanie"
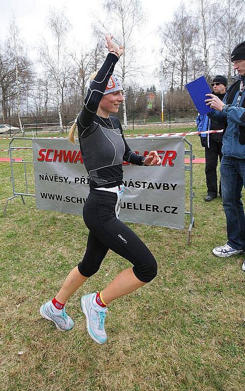
M 205 95 L 211 94 L 211 90 L 204 76 L 198 77 L 198 79 L 186 84 L 186 89 L 189 92 L 199 114 L 207 114 L 213 111 L 213 108 L 207 106 L 204 102 L 205 99 L 208 99 Z

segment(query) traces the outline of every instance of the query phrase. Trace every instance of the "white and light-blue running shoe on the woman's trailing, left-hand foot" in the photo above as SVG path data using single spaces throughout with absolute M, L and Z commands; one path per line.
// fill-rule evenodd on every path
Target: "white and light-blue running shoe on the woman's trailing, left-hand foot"
M 73 328 L 74 323 L 70 316 L 66 313 L 66 307 L 60 311 L 60 315 L 53 313 L 51 308 L 51 301 L 43 304 L 40 308 L 40 314 L 44 319 L 51 320 L 60 331 L 69 331 Z

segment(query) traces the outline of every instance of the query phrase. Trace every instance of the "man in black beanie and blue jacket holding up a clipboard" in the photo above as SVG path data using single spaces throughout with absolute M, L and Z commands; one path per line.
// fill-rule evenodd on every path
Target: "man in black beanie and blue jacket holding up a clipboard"
M 238 75 L 224 100 L 210 92 L 204 99 L 209 108 L 208 117 L 224 127 L 220 172 L 228 240 L 212 250 L 221 258 L 240 254 L 245 249 L 245 216 L 241 201 L 245 184 L 245 41 L 232 50 L 231 62 Z M 245 271 L 245 260 L 242 270 Z

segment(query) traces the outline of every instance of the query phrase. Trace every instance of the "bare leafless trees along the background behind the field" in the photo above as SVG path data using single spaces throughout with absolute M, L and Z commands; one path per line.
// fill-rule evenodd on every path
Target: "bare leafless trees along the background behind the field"
M 243 6 L 240 0 L 197 0 L 191 9 L 181 4 L 172 19 L 158 28 L 156 34 L 162 38 L 159 64 L 163 62 L 166 113 L 170 111 L 173 116 L 195 114 L 185 84 L 202 74 L 209 82 L 216 74 L 227 76 L 231 82 L 234 73 L 230 52 L 245 35 Z M 96 26 L 91 26 L 95 43 L 90 42 L 89 48 L 79 42 L 73 42 L 72 48 L 69 47 L 67 37 L 72 26 L 66 13 L 51 10 L 48 28 L 53 41 L 47 42 L 44 38 L 41 41 L 38 64 L 28 59 L 13 20 L 13 32 L 0 42 L 0 117 L 3 123 L 14 118 L 16 123 L 21 122 L 21 117 L 25 122 L 38 118 L 41 122 L 58 120 L 63 129 L 64 123 L 74 120 L 82 109 L 90 74 L 104 61 L 101 37 L 109 31 L 107 23 L 111 31 L 117 26 L 115 39 L 125 46 L 125 55 L 116 68 L 123 80 L 126 97 L 119 115 L 127 124 L 127 118 L 132 120 L 160 113 L 161 86 L 137 84 L 141 67 L 135 60 L 137 45 L 132 31 L 144 25 L 141 2 L 108 0 L 104 2 L 104 10 L 105 19 L 95 16 Z M 161 80 L 160 68 L 156 69 L 156 74 Z M 152 104 L 149 99 L 153 99 Z

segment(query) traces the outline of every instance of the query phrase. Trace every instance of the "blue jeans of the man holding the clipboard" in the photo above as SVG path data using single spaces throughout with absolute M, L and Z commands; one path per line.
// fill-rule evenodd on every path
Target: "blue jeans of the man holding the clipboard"
M 241 190 L 245 184 L 245 160 L 223 156 L 220 165 L 223 207 L 226 214 L 227 243 L 245 248 L 245 217 Z

